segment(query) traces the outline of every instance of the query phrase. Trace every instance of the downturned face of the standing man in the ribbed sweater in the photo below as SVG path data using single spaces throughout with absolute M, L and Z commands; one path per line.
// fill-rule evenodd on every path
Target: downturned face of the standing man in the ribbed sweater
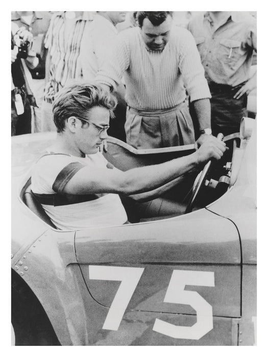
M 148 18 L 144 18 L 141 36 L 145 45 L 153 51 L 162 51 L 169 39 L 171 27 L 172 17 L 170 15 L 158 26 L 154 26 Z

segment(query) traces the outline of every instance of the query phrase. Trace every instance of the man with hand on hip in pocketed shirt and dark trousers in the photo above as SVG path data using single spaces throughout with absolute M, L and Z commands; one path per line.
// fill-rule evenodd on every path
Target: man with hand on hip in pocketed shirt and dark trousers
M 256 88 L 256 71 L 251 72 L 256 19 L 242 11 L 208 11 L 192 18 L 188 30 L 196 39 L 212 96 L 212 134 L 239 132 L 247 96 Z

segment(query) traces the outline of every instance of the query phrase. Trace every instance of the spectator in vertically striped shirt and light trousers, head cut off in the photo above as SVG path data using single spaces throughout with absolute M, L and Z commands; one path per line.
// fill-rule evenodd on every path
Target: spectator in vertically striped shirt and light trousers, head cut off
M 52 105 L 57 92 L 71 80 L 82 80 L 80 45 L 94 17 L 90 11 L 61 11 L 52 15 L 45 36 L 47 49 L 45 90 L 41 109 L 41 130 L 55 131 Z

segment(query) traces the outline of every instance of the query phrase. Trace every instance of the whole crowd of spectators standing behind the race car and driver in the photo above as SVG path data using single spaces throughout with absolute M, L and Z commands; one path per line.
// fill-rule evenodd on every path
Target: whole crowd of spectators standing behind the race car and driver
M 56 131 L 74 80 L 112 91 L 108 134 L 137 148 L 237 132 L 256 52 L 250 12 L 12 12 L 11 135 Z

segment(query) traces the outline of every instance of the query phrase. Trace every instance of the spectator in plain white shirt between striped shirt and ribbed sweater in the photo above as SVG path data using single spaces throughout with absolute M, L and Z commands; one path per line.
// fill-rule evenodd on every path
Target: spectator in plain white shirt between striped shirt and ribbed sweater
M 94 81 L 103 62 L 110 56 L 113 41 L 118 34 L 116 25 L 125 21 L 126 13 L 126 11 L 97 11 L 90 27 L 88 27 L 89 32 L 84 32 L 80 58 L 85 81 Z M 126 141 L 124 125 L 127 105 L 124 99 L 125 87 L 122 82 L 118 83 L 113 95 L 117 98 L 117 106 L 114 110 L 115 118 L 111 120 L 108 135 Z

